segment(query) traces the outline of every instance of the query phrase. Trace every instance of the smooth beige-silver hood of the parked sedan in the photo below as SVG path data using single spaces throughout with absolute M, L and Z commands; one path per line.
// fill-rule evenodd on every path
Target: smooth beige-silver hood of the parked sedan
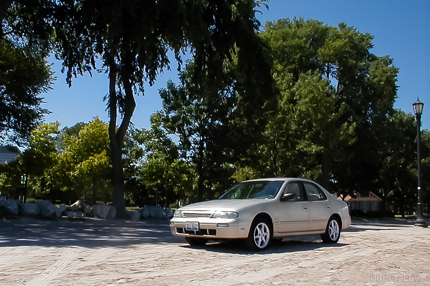
M 178 208 L 178 211 L 239 211 L 252 205 L 260 205 L 274 199 L 217 199 L 197 202 Z

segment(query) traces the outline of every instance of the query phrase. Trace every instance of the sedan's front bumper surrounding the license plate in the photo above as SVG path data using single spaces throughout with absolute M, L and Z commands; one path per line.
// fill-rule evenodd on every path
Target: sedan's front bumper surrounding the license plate
M 198 222 L 199 230 L 186 230 L 186 222 Z M 207 239 L 246 238 L 248 237 L 249 224 L 241 224 L 237 219 L 174 217 L 170 220 L 170 230 L 172 235 L 184 237 Z

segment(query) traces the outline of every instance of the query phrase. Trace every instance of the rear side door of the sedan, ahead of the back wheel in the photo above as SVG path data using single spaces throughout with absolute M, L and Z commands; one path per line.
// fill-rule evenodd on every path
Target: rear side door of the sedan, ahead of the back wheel
M 303 182 L 303 186 L 306 192 L 306 200 L 309 202 L 309 230 L 326 229 L 327 221 L 332 214 L 332 206 L 327 196 L 316 184 Z

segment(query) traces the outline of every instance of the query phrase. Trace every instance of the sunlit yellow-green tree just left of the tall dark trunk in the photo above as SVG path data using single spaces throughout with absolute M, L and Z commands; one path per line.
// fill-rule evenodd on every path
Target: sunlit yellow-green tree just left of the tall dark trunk
M 73 134 L 77 129 L 78 134 Z M 92 203 L 98 198 L 110 199 L 108 125 L 94 117 L 88 124 L 77 123 L 64 130 L 61 139 L 64 151 L 58 154 L 58 163 L 51 170 L 52 187 L 75 190 L 79 198 Z

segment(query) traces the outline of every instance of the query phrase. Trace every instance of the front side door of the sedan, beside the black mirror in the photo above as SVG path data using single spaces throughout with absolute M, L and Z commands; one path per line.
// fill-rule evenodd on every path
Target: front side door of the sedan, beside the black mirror
M 300 181 L 292 181 L 283 192 L 295 193 L 295 199 L 279 201 L 279 232 L 303 232 L 309 229 L 309 202 L 304 200 L 304 189 Z

